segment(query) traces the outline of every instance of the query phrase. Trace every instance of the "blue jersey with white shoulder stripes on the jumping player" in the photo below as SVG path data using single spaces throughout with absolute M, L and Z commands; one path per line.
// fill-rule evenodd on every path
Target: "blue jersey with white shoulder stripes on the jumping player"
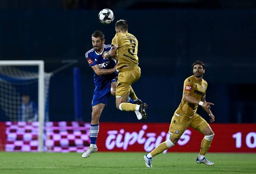
M 88 50 L 88 52 L 85 54 L 86 60 L 88 61 L 89 66 L 95 66 L 98 64 L 100 66 L 100 69 L 112 69 L 114 66 L 116 66 L 117 61 L 115 59 L 110 59 L 106 60 L 103 59 L 102 54 L 105 51 L 109 51 L 111 49 L 110 44 L 104 44 L 104 49 L 102 53 L 98 54 L 94 48 L 91 50 Z M 95 89 L 104 89 L 109 85 L 109 82 L 115 77 L 118 76 L 118 72 L 116 71 L 115 73 L 111 73 L 105 76 L 98 76 L 94 71 L 93 71 L 93 81 L 95 84 Z

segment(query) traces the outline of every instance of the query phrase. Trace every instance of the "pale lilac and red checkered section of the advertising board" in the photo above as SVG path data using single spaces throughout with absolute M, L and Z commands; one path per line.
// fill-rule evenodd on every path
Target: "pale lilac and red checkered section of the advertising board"
M 84 152 L 90 145 L 90 125 L 76 121 L 47 122 L 44 151 Z M 5 151 L 38 151 L 39 122 L 6 122 L 0 126 L 5 128 L 6 139 L 2 140 Z

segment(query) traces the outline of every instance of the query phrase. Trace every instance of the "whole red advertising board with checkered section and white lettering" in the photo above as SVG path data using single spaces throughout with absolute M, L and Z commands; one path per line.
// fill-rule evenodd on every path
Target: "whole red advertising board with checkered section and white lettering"
M 100 123 L 98 151 L 151 151 L 169 138 L 168 123 Z M 210 124 L 215 133 L 209 152 L 256 152 L 256 124 Z M 37 151 L 38 122 L 1 122 L 0 150 Z M 90 124 L 47 122 L 44 151 L 84 152 L 90 144 Z M 198 152 L 204 136 L 188 128 L 173 152 Z M 166 153 L 165 151 L 164 153 Z

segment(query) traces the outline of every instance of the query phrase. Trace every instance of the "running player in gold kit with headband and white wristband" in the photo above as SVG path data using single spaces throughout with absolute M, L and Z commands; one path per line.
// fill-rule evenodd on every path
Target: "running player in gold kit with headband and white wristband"
M 202 79 L 205 73 L 205 65 L 198 60 L 193 63 L 192 69 L 194 75 L 186 78 L 184 81 L 182 101 L 172 117 L 169 129 L 170 139 L 162 142 L 153 151 L 144 156 L 147 167 L 152 167 L 151 162 L 154 156 L 174 146 L 189 126 L 205 135 L 202 139 L 201 151 L 196 159 L 196 163 L 204 163 L 208 166 L 214 165 L 214 163 L 205 158 L 214 133 L 205 119 L 196 113 L 198 105 L 201 105 L 209 115 L 210 122 L 214 122 L 215 117 L 210 110 L 210 105 L 214 104 L 205 101 L 207 82 Z

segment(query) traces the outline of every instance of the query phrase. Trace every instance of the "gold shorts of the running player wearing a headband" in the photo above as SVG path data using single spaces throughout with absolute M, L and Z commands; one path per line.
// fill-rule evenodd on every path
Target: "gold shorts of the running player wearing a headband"
M 169 133 L 175 137 L 180 138 L 184 131 L 188 127 L 194 128 L 198 132 L 202 133 L 202 130 L 207 128 L 209 124 L 200 115 L 195 114 L 193 118 L 184 116 L 177 116 L 176 113 L 172 117 L 172 121 L 169 128 Z

